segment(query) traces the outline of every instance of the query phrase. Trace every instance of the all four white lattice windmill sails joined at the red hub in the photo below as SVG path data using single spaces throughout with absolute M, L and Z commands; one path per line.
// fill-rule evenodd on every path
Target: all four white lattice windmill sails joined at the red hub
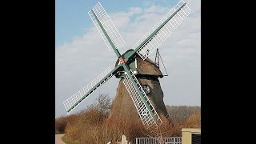
M 92 94 L 94 90 L 98 89 L 99 86 L 102 86 L 103 83 L 115 75 L 117 78 L 122 78 L 123 85 L 130 94 L 130 98 L 145 128 L 156 129 L 158 126 L 161 126 L 162 120 L 147 96 L 145 88 L 138 81 L 136 77 L 138 73 L 136 73 L 136 70 L 132 70 L 132 67 L 134 61 L 136 61 L 136 56 L 139 56 L 143 61 L 148 59 L 149 55 L 174 32 L 190 12 L 191 10 L 186 2 L 181 0 L 133 46 L 133 49 L 127 50 L 125 54 L 120 54 L 118 48 L 123 46 L 125 41 L 114 26 L 110 16 L 106 14 L 106 11 L 98 2 L 88 14 L 101 34 L 106 46 L 117 55 L 118 63 L 113 70 L 108 67 L 90 84 L 63 102 L 68 114 Z

